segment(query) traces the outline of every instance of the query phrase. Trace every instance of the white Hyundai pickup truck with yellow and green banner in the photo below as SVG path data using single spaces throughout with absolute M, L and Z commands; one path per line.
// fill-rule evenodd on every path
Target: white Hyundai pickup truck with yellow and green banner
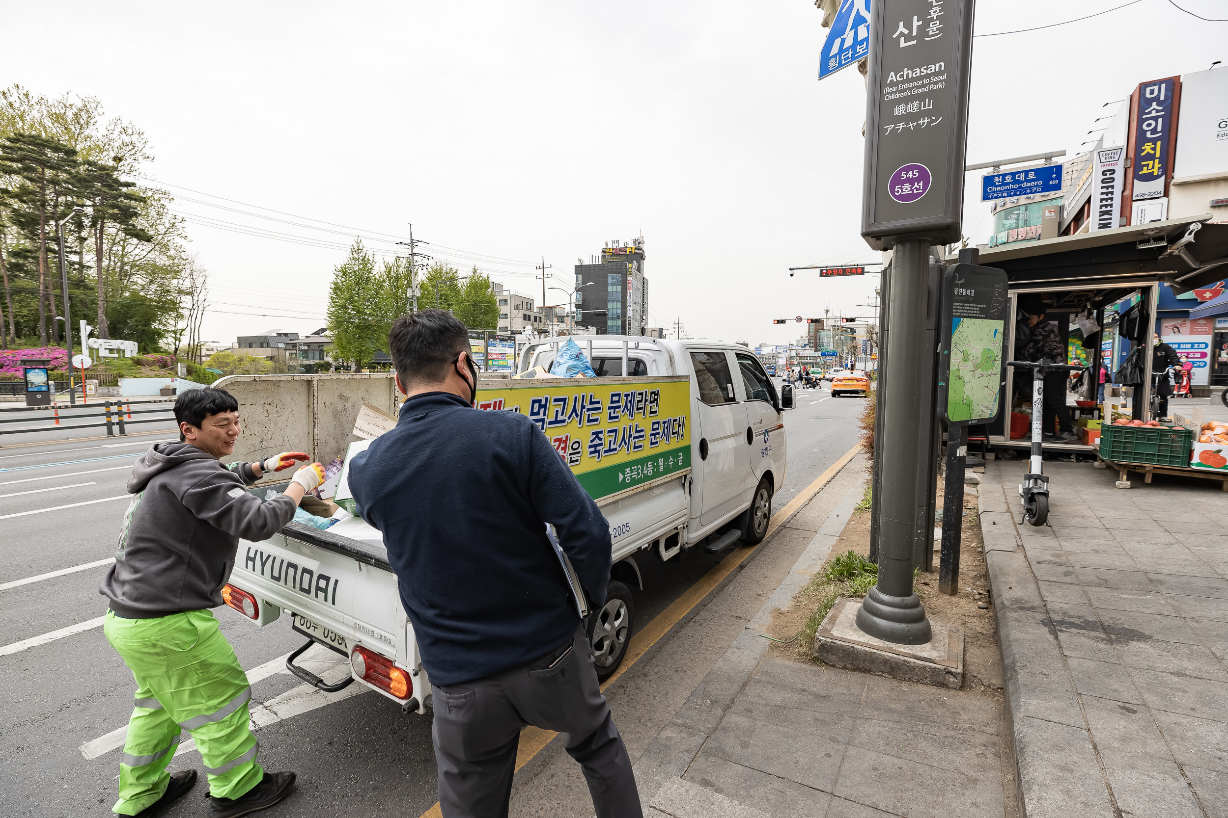
M 566 340 L 529 343 L 519 370 L 549 370 Z M 635 630 L 630 586 L 642 590 L 637 559 L 669 560 L 695 547 L 718 553 L 764 538 L 772 494 L 786 477 L 782 412 L 795 397 L 787 384 L 777 391 L 739 345 L 575 340 L 597 378 L 480 375 L 476 405 L 533 419 L 605 515 L 614 568 L 604 607 L 586 617 L 604 679 Z M 306 449 L 328 462 L 371 437 L 355 428 L 363 403 L 392 417 L 400 403 L 391 373 L 232 375 L 215 385 L 239 403 L 237 460 Z M 266 478 L 249 491 L 263 497 L 284 484 Z M 344 486 L 338 497 L 343 492 Z M 406 713 L 430 708 L 430 679 L 382 537 L 360 516 L 325 530 L 290 522 L 269 540 L 241 541 L 223 591 L 227 605 L 258 625 L 289 614 L 308 640 L 287 667 L 317 688 L 332 692 L 357 681 Z M 349 677 L 328 684 L 295 665 L 317 643 L 349 660 Z

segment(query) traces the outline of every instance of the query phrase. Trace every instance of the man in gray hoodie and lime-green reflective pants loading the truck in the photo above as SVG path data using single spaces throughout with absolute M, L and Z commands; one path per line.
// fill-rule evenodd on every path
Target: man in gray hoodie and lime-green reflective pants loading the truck
M 223 466 L 241 432 L 238 402 L 223 389 L 183 392 L 174 419 L 179 443 L 156 443 L 133 465 L 115 563 L 98 589 L 111 601 L 103 633 L 136 681 L 112 811 L 158 812 L 193 787 L 195 770 L 166 771 L 187 730 L 209 775 L 210 817 L 233 818 L 286 797 L 295 774 L 257 763 L 252 688 L 210 608 L 223 603 L 239 537 L 276 533 L 324 470 L 300 468 L 285 493 L 263 502 L 246 487 L 306 454 Z

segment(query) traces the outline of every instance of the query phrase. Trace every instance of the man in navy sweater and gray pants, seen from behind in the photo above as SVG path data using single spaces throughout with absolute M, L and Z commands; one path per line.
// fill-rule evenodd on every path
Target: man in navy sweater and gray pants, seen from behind
M 507 814 L 519 732 L 533 725 L 567 733 L 598 818 L 639 818 L 631 760 L 546 536 L 549 522 L 599 610 L 605 518 L 532 421 L 473 408 L 464 324 L 427 309 L 398 319 L 388 341 L 405 402 L 355 455 L 349 484 L 383 532 L 430 675 L 443 816 Z

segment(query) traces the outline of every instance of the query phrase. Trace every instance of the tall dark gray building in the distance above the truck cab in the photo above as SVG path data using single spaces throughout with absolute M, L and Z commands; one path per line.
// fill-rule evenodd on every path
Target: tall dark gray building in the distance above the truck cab
M 643 237 L 608 242 L 600 261 L 576 265 L 576 324 L 597 335 L 646 335 L 648 280 Z

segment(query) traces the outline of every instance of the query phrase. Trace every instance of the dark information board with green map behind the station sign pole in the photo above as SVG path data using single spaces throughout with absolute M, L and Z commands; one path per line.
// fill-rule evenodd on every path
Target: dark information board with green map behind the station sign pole
M 943 273 L 938 405 L 948 426 L 977 426 L 997 417 L 1008 305 L 1002 270 L 955 264 Z

